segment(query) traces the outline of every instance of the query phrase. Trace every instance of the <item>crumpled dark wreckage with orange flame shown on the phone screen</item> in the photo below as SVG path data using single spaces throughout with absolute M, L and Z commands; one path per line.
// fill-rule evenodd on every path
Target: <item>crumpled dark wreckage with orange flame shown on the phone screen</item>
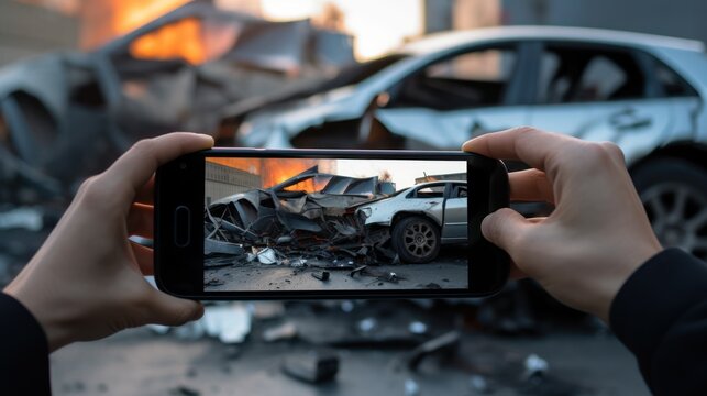
M 390 262 L 387 230 L 369 232 L 354 208 L 394 191 L 377 176 L 339 176 L 314 166 L 273 187 L 219 199 L 205 209 L 205 265 Z

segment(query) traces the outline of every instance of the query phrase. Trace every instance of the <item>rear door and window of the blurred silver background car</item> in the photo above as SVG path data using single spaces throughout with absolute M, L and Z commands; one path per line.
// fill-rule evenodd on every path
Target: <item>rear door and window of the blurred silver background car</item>
M 651 94 L 644 54 L 567 42 L 538 48 L 531 125 L 617 143 L 629 163 L 669 132 L 671 105 Z

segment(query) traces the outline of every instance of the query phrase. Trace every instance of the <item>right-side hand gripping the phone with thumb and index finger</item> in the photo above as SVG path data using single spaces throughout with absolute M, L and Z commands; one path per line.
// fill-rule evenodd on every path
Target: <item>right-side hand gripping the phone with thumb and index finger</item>
M 526 219 L 500 209 L 482 232 L 555 298 L 608 322 L 623 283 L 662 250 L 621 150 L 532 128 L 485 134 L 462 148 L 531 166 L 509 174 L 511 200 L 546 201 L 554 211 Z

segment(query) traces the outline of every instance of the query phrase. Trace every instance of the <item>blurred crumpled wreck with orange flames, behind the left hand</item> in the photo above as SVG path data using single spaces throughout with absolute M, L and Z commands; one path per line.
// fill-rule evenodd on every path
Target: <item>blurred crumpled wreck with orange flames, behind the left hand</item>
M 345 34 L 197 0 L 97 50 L 3 67 L 0 183 L 11 188 L 0 199 L 27 201 L 22 189 L 35 191 L 34 201 L 67 198 L 143 138 L 223 138 L 218 124 L 227 105 L 352 62 Z

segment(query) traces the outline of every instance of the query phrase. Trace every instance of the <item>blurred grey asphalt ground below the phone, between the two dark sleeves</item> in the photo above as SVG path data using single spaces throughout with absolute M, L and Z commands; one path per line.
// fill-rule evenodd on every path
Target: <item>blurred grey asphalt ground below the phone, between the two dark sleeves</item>
M 310 318 L 321 311 L 313 310 Z M 325 311 L 324 311 L 325 312 Z M 394 312 L 395 314 L 395 312 Z M 430 356 L 417 373 L 401 365 L 412 349 L 399 342 L 375 343 L 390 332 L 383 327 L 371 344 L 341 341 L 342 323 L 352 314 L 322 315 L 321 321 L 295 321 L 298 340 L 267 343 L 263 330 L 276 323 L 255 323 L 245 343 L 224 345 L 213 339 L 186 340 L 157 336 L 145 328 L 107 340 L 69 345 L 51 358 L 55 395 L 480 395 L 470 386 L 482 374 L 487 395 L 649 395 L 633 358 L 611 336 L 557 330 L 543 337 L 499 338 L 464 330 L 454 349 L 455 363 Z M 367 314 L 366 314 L 367 315 Z M 394 322 L 407 322 L 393 315 Z M 289 318 L 297 317 L 288 315 Z M 433 323 L 437 316 L 427 319 Z M 383 321 L 385 318 L 379 317 Z M 434 326 L 445 328 L 444 318 Z M 454 326 L 453 323 L 450 326 Z M 459 327 L 459 326 L 456 326 Z M 379 331 L 379 332 L 378 332 Z M 328 339 L 330 338 L 330 339 Z M 339 339 L 341 345 L 331 346 Z M 391 340 L 391 339 L 389 339 Z M 318 342 L 341 358 L 333 382 L 311 385 L 280 371 L 285 358 L 312 350 Z M 387 345 L 387 346 L 383 346 Z M 523 382 L 522 362 L 537 354 L 549 364 L 539 386 Z M 406 393 L 406 382 L 417 393 Z M 408 389 L 416 391 L 416 389 Z

